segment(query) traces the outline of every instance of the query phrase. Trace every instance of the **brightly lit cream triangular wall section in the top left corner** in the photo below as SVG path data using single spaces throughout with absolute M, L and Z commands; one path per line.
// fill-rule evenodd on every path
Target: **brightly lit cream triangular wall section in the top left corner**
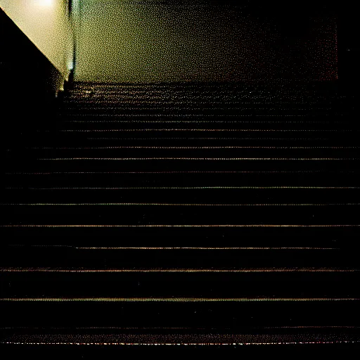
M 63 76 L 68 77 L 73 47 L 68 0 L 0 0 L 0 6 Z

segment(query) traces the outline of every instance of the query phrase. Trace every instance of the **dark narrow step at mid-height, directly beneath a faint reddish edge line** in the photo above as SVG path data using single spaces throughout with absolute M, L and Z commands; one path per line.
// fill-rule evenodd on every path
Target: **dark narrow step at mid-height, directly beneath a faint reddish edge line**
M 234 170 L 230 172 L 215 172 L 200 170 L 156 172 L 57 172 L 47 169 L 46 172 L 11 172 L 4 176 L 6 188 L 236 188 L 237 190 L 255 190 L 255 188 L 291 188 L 299 187 L 313 190 L 330 187 L 331 190 L 343 190 L 359 187 L 359 170 L 337 171 L 319 167 L 309 171 L 300 170 L 269 170 L 264 172 L 246 172 Z M 254 188 L 254 189 L 253 189 Z M 160 190 L 160 189 L 159 189 Z M 330 190 L 330 189 L 329 189 Z

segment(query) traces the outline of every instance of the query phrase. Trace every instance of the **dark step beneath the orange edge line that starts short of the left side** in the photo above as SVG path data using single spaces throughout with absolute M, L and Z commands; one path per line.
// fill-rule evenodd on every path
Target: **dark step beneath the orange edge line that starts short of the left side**
M 345 243 L 328 247 L 114 247 L 82 245 L 8 245 L 1 248 L 1 271 L 345 271 L 356 269 L 357 256 Z M 260 244 L 261 245 L 261 244 Z M 293 246 L 293 247 L 292 247 Z M 327 268 L 327 269 L 325 269 Z M 192 271 L 188 271 L 190 274 Z M 261 272 L 261 271 L 259 271 Z M 20 276 L 18 277 L 19 279 Z M 250 285 L 250 284 L 248 284 Z

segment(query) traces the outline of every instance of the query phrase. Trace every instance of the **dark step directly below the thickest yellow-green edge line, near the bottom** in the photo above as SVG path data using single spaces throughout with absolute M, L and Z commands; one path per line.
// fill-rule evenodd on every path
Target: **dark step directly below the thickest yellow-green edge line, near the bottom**
M 238 328 L 357 326 L 360 300 L 52 299 L 1 301 L 7 327 Z

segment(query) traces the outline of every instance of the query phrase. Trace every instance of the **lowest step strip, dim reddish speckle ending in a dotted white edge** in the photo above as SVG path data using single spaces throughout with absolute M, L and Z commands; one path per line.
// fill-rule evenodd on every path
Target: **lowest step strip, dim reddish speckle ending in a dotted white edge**
M 33 333 L 26 333 L 33 330 Z M 60 334 L 56 333 L 56 330 Z M 89 333 L 86 333 L 86 330 Z M 92 330 L 92 331 L 89 331 Z M 97 333 L 94 334 L 94 331 Z M 98 328 L 77 329 L 71 333 L 70 329 L 11 329 L 11 334 L 5 334 L 3 339 L 9 345 L 311 345 L 317 344 L 355 344 L 360 340 L 359 328 L 323 328 L 321 333 L 314 333 L 314 329 L 302 328 L 301 331 L 289 328 L 253 328 L 248 333 L 214 333 L 214 331 L 193 329 L 158 329 L 144 332 L 144 329 L 132 329 L 133 333 L 124 329 Z M 293 330 L 293 331 L 291 331 Z M 328 333 L 332 330 L 333 333 Z M 356 331 L 357 332 L 356 332 Z M 74 331 L 74 330 L 72 330 Z M 244 330 L 243 330 L 244 331 Z M 147 347 L 148 349 L 148 347 Z M 179 349 L 179 347 L 176 347 Z M 250 348 L 254 350 L 254 347 Z M 271 347 L 266 347 L 267 351 Z M 324 347 L 321 347 L 324 349 Z M 32 347 L 32 351 L 34 347 Z M 93 349 L 94 350 L 94 349 Z M 73 350 L 75 351 L 75 349 Z M 177 351 L 177 350 L 176 350 Z

